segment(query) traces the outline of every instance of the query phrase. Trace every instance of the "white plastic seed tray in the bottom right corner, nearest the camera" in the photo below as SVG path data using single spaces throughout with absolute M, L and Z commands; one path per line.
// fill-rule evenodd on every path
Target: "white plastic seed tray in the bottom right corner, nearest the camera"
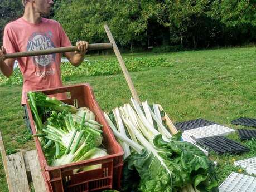
M 232 172 L 219 186 L 220 192 L 256 192 L 256 178 Z

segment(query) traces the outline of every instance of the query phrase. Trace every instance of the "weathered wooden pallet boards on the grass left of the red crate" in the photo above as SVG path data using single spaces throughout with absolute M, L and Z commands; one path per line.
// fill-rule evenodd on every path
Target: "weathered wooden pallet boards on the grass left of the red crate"
M 30 192 L 30 182 L 33 182 L 33 191 L 46 192 L 36 150 L 21 151 L 7 156 L 0 132 L 0 152 L 9 192 Z

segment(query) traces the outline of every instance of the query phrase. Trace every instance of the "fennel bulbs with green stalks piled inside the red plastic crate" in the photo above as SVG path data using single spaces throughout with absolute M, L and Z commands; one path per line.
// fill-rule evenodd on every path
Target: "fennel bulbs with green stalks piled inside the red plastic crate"
M 102 130 L 95 115 L 87 107 L 76 109 L 41 92 L 28 92 L 33 119 L 44 154 L 51 166 L 106 156 L 102 146 Z M 96 169 L 100 165 L 77 171 Z

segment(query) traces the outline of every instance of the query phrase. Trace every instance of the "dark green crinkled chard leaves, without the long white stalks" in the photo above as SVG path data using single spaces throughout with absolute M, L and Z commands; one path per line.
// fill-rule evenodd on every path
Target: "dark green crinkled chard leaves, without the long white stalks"
M 128 169 L 136 169 L 141 178 L 139 191 L 173 192 L 188 183 L 200 191 L 218 191 L 214 164 L 204 152 L 188 142 L 166 142 L 161 135 L 157 135 L 153 142 L 166 167 L 147 150 L 142 155 L 133 153 L 126 160 Z

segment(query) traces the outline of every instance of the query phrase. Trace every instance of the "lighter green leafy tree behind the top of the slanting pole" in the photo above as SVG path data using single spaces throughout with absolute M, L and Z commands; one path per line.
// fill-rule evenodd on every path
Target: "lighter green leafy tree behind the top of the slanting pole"
M 148 20 L 153 12 L 151 2 L 73 0 L 69 4 L 62 3 L 54 18 L 62 24 L 72 42 L 106 40 L 103 25 L 107 23 L 115 40 L 122 46 L 129 45 L 132 50 L 133 43 L 143 45 L 147 41 Z

